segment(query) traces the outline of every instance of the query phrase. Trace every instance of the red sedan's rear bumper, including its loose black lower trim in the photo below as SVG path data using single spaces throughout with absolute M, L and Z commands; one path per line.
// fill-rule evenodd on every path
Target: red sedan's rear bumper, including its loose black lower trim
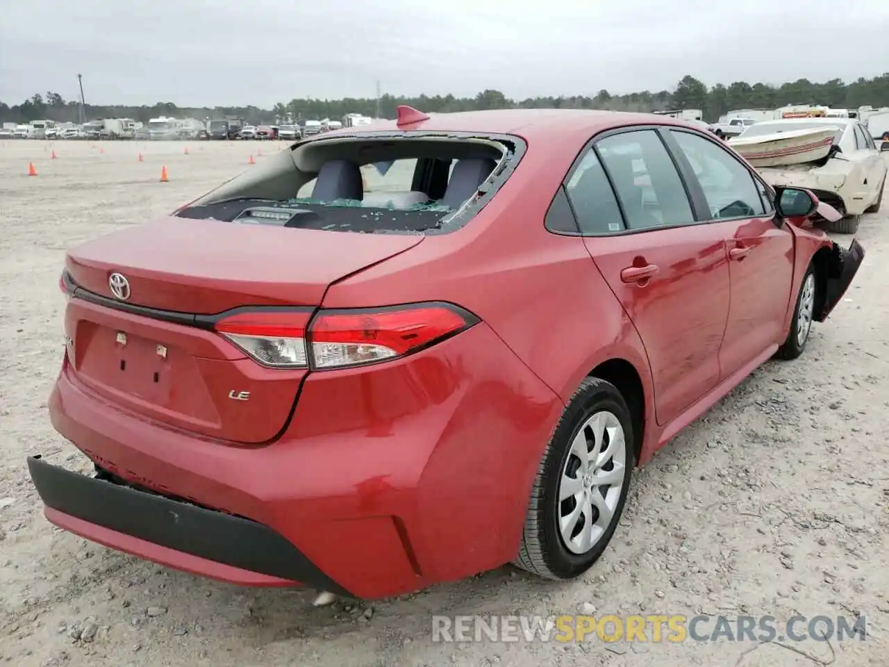
M 32 475 L 59 526 L 233 583 L 300 582 L 370 599 L 513 559 L 564 405 L 482 323 L 408 358 L 309 374 L 268 446 L 197 438 L 124 412 L 67 362 L 49 408 L 55 429 L 103 470 L 166 496 L 64 473 L 72 491 L 61 502 L 39 480 L 52 470 L 36 460 Z M 144 509 L 96 507 L 118 502 Z M 201 522 L 197 541 L 180 532 Z M 232 550 L 223 526 L 276 555 Z

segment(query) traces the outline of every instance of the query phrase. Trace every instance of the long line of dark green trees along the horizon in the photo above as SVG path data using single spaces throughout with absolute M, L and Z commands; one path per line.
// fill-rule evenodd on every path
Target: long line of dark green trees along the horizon
M 731 109 L 778 108 L 786 104 L 823 104 L 831 108 L 889 107 L 889 72 L 873 78 L 861 77 L 846 84 L 841 79 L 813 83 L 798 79 L 781 85 L 716 84 L 709 88 L 691 75 L 684 76 L 673 91 L 642 91 L 626 95 L 613 95 L 600 90 L 593 96 L 535 97 L 526 100 L 510 100 L 500 91 L 488 89 L 475 97 L 460 98 L 453 95 L 419 95 L 404 97 L 382 95 L 374 98 L 345 98 L 343 100 L 293 99 L 279 102 L 273 108 L 259 107 L 177 107 L 172 102 L 158 102 L 148 106 L 92 105 L 84 106 L 86 120 L 125 117 L 148 122 L 158 116 L 195 117 L 199 119 L 244 117 L 248 122 L 282 122 L 285 117 L 338 119 L 348 113 L 364 116 L 396 117 L 396 107 L 407 104 L 428 112 L 473 111 L 491 108 L 597 108 L 613 111 L 664 111 L 673 108 L 700 108 L 704 119 L 714 122 Z M 80 102 L 64 100 L 58 92 L 37 93 L 19 104 L 0 102 L 0 122 L 28 123 L 32 120 L 76 122 L 80 117 Z

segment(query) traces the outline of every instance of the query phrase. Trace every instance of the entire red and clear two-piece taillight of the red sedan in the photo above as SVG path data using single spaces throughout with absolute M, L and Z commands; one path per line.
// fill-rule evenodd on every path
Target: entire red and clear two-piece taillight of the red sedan
M 447 303 L 322 309 L 307 332 L 308 318 L 306 310 L 249 310 L 223 317 L 214 328 L 265 366 L 324 370 L 403 357 L 478 321 Z

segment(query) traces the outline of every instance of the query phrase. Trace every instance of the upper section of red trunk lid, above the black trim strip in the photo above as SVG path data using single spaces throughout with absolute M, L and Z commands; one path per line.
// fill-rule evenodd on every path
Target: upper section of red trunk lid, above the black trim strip
M 327 286 L 420 243 L 419 235 L 163 218 L 68 252 L 76 285 L 116 299 L 109 278 L 126 278 L 126 303 L 198 315 L 245 305 L 317 306 Z

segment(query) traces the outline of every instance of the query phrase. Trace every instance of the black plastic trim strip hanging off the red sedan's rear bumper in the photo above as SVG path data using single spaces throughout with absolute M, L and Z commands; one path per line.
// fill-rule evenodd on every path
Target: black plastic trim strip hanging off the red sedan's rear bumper
M 86 477 L 28 456 L 47 507 L 172 550 L 352 597 L 292 542 L 248 518 Z

